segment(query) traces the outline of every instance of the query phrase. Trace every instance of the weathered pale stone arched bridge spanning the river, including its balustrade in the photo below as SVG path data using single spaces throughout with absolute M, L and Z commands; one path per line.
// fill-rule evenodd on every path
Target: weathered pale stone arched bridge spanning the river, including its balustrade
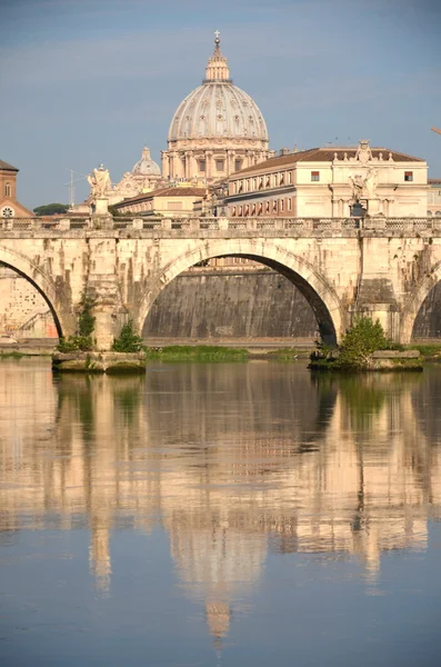
M 378 317 L 408 342 L 441 279 L 441 218 L 8 219 L 0 263 L 42 293 L 60 335 L 74 332 L 82 293 L 97 297 L 96 337 L 107 349 L 129 315 L 139 330 L 161 290 L 211 257 L 242 256 L 284 275 L 310 302 L 324 339 L 353 312 Z

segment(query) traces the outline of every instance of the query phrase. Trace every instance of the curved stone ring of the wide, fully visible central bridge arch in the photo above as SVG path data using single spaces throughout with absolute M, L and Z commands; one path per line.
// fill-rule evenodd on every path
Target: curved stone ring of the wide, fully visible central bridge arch
M 309 301 L 313 309 L 322 339 L 335 344 L 345 330 L 345 313 L 341 301 L 315 268 L 302 257 L 289 252 L 282 246 L 265 240 L 213 239 L 179 255 L 170 261 L 148 285 L 134 317 L 139 330 L 161 291 L 180 273 L 200 261 L 214 257 L 244 257 L 259 261 L 288 278 Z

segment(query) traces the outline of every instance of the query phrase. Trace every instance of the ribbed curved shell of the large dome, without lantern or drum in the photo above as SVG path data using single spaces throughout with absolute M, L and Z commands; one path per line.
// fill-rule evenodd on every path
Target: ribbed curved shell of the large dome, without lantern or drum
M 223 137 L 268 141 L 267 126 L 249 94 L 228 81 L 207 81 L 191 92 L 170 125 L 169 141 Z

